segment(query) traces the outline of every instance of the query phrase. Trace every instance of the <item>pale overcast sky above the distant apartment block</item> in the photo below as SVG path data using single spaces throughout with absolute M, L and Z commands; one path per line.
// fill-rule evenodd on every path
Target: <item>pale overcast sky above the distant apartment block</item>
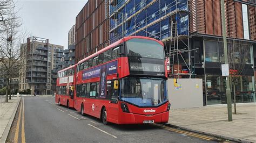
M 87 0 L 16 0 L 23 28 L 68 49 L 68 32 Z

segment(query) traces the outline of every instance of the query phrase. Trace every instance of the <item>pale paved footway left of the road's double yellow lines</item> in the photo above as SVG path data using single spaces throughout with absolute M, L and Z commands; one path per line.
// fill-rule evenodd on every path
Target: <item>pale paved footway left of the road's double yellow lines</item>
M 8 136 L 20 99 L 12 97 L 9 102 L 4 102 L 5 96 L 0 97 L 0 142 L 5 142 Z

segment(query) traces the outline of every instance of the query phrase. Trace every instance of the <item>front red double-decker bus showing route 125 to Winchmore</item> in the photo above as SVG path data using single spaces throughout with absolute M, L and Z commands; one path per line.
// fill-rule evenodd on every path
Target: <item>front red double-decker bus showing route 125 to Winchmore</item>
M 104 124 L 167 122 L 164 58 L 163 43 L 147 37 L 126 37 L 88 56 L 77 63 L 74 108 Z

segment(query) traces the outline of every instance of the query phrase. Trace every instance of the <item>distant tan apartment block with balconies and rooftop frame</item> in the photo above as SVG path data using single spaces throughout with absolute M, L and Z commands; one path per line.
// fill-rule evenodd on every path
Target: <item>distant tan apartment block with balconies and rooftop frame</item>
M 50 44 L 49 39 L 29 37 L 22 48 L 26 50 L 26 63 L 20 70 L 19 90 L 53 94 L 57 71 L 62 68 L 63 46 Z

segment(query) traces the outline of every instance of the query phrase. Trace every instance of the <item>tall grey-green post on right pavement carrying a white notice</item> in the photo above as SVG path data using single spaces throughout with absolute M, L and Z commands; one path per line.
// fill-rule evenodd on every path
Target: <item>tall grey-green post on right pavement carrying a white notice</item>
M 224 0 L 221 0 L 221 21 L 222 21 L 222 31 L 223 31 L 223 43 L 224 43 L 224 56 L 225 64 L 228 64 L 227 59 L 227 35 L 226 35 L 226 19 L 225 19 L 225 6 Z M 226 96 L 227 96 L 227 113 L 228 121 L 232 121 L 232 102 L 231 102 L 231 90 L 230 90 L 230 76 L 226 76 Z

